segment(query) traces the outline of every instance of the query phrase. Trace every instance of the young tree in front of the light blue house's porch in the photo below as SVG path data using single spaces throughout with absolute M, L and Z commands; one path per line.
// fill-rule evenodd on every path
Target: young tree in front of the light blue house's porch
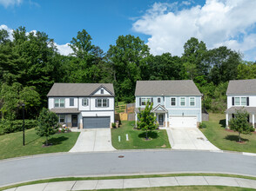
M 148 140 L 147 132 L 148 130 L 154 130 L 158 127 L 156 124 L 156 116 L 152 113 L 153 104 L 147 102 L 145 110 L 140 110 L 138 113 L 137 126 L 139 129 L 145 130 L 145 139 Z

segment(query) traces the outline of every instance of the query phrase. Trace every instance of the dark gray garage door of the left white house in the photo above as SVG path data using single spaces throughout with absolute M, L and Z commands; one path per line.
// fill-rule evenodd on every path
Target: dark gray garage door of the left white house
M 84 117 L 83 128 L 110 128 L 110 116 Z

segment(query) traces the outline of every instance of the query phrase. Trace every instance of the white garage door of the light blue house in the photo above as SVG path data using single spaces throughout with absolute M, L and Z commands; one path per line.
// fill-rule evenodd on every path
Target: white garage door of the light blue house
M 171 128 L 196 128 L 197 122 L 196 116 L 170 116 Z

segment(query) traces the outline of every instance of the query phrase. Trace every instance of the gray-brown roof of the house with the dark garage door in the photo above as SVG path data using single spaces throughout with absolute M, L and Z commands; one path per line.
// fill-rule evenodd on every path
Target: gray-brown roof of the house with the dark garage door
M 96 89 L 104 88 L 115 96 L 112 83 L 54 83 L 48 93 L 49 96 L 92 96 Z

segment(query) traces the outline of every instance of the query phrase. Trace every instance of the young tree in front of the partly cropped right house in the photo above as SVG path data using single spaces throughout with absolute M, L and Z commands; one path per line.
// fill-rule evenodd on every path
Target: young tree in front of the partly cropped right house
M 241 134 L 247 135 L 254 131 L 252 125 L 247 122 L 248 113 L 246 110 L 237 110 L 237 114 L 230 121 L 230 129 L 239 132 L 239 142 L 241 142 Z

